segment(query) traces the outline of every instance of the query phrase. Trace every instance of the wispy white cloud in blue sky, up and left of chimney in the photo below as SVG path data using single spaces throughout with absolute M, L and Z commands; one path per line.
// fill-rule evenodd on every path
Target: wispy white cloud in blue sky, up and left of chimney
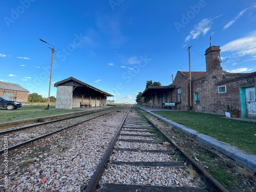
M 216 17 L 215 17 L 216 18 Z M 189 32 L 189 35 L 185 38 L 185 42 L 191 38 L 196 39 L 199 35 L 205 35 L 211 28 L 212 19 L 205 18 L 201 22 L 194 26 L 194 29 Z

